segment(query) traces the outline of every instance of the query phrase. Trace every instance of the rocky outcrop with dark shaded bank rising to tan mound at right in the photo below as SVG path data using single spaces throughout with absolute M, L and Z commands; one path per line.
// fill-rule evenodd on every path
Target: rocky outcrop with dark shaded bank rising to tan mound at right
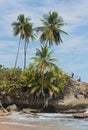
M 41 97 L 40 97 L 41 98 Z M 88 107 L 88 83 L 80 82 L 71 78 L 65 86 L 62 93 L 54 95 L 49 100 L 48 106 L 43 108 L 44 100 L 31 95 L 29 92 L 21 92 L 19 97 L 14 94 L 3 94 L 1 102 L 6 108 L 11 104 L 16 104 L 19 108 L 32 108 L 42 112 L 69 112 L 78 113 L 84 112 Z M 17 110 L 15 105 L 9 106 L 8 111 Z M 31 113 L 30 110 L 23 110 L 23 112 Z

